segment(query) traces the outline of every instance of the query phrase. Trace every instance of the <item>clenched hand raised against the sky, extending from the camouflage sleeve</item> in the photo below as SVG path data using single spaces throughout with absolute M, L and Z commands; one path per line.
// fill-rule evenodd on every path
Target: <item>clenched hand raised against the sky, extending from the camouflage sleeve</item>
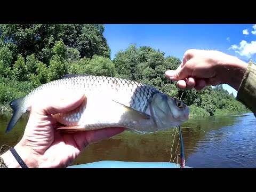
M 200 91 L 208 85 L 229 84 L 238 90 L 248 64 L 219 51 L 188 50 L 176 70 L 167 70 L 165 76 L 177 81 L 180 89 Z

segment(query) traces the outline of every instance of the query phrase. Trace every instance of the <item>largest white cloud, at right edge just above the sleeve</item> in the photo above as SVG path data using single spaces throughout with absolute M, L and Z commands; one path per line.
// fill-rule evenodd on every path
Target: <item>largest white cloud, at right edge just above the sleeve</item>
M 251 41 L 251 43 L 247 43 L 243 40 L 240 42 L 240 46 L 231 45 L 229 49 L 237 50 L 235 52 L 239 55 L 251 58 L 253 54 L 256 54 L 256 41 Z

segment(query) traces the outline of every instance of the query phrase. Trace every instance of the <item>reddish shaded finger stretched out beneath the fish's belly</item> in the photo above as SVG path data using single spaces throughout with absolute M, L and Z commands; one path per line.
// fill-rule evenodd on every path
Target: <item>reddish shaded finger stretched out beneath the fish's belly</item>
M 103 139 L 108 139 L 119 133 L 122 133 L 124 130 L 124 127 L 108 127 L 99 130 L 85 131 L 82 133 L 76 133 L 75 140 L 78 147 L 82 150 L 91 143 L 99 142 Z

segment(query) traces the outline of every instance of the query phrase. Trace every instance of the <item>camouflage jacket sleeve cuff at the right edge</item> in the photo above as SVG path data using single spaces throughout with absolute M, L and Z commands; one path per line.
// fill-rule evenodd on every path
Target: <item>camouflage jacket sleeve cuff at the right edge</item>
M 244 74 L 236 99 L 256 116 L 256 65 L 252 61 L 250 61 Z

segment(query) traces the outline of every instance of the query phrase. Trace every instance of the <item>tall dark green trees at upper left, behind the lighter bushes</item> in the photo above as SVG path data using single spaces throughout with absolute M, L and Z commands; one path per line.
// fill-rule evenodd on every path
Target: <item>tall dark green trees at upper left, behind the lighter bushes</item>
M 94 54 L 110 58 L 104 26 L 99 24 L 2 24 L 0 31 L 1 42 L 13 52 L 12 65 L 18 54 L 26 58 L 35 53 L 48 66 L 54 54 L 52 47 L 60 39 L 78 50 L 81 58 L 92 58 Z

